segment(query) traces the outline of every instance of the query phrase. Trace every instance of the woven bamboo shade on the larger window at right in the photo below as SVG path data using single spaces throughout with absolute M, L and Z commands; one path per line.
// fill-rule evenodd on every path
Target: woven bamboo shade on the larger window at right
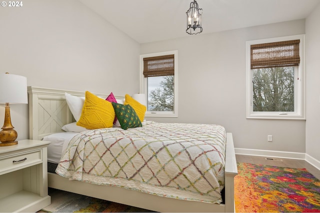
M 251 45 L 251 69 L 298 66 L 300 40 Z

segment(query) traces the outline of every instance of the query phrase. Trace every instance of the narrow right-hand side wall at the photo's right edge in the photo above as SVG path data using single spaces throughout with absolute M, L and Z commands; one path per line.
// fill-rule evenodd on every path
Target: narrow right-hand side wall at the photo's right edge
M 320 4 L 306 18 L 306 154 L 320 161 Z

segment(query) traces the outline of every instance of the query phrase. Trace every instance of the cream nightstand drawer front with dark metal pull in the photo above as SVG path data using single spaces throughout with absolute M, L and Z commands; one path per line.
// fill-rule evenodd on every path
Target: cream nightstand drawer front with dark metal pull
M 0 158 L 0 174 L 42 163 L 42 150 L 34 150 Z

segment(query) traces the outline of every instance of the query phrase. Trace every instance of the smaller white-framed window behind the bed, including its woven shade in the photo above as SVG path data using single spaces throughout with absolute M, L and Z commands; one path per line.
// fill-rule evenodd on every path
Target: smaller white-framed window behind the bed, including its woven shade
M 146 117 L 177 117 L 177 51 L 140 55 Z

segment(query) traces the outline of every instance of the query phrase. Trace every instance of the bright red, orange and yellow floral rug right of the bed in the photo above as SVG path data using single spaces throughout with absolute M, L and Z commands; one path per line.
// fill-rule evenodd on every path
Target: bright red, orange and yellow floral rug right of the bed
M 237 163 L 235 212 L 320 212 L 320 181 L 306 169 Z

